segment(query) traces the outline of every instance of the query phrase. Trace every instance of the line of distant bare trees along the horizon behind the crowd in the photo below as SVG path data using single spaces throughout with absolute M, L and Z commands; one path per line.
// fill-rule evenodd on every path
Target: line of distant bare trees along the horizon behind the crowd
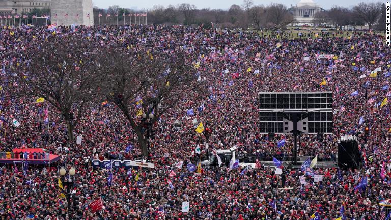
M 122 13 L 132 13 L 131 10 L 111 6 L 109 9 L 94 8 L 95 23 L 98 23 L 98 14 L 118 13 L 122 20 Z M 222 9 L 197 9 L 195 5 L 182 3 L 177 6 L 155 5 L 152 9 L 144 10 L 148 13 L 149 24 L 167 25 L 203 25 L 204 28 L 212 26 L 242 27 L 242 28 L 282 28 L 294 22 L 294 17 L 289 8 L 283 4 L 272 3 L 270 5 L 255 5 L 252 0 L 244 0 L 243 4 L 231 5 L 227 10 Z M 125 19 L 129 19 L 125 17 Z M 133 18 L 134 19 L 134 18 Z M 103 19 L 104 20 L 104 19 Z M 130 21 L 130 20 L 129 20 Z M 358 3 L 353 9 L 341 6 L 333 6 L 329 10 L 321 10 L 315 14 L 313 20 L 316 25 L 368 25 L 369 28 L 385 30 L 385 5 L 380 2 Z M 103 24 L 108 23 L 107 20 Z M 128 23 L 128 22 L 127 22 Z

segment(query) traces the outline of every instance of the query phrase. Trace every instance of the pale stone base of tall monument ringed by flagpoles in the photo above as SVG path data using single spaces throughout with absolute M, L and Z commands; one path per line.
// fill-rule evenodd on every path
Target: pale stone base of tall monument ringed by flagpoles
M 94 25 L 92 0 L 53 0 L 51 22 L 57 25 Z

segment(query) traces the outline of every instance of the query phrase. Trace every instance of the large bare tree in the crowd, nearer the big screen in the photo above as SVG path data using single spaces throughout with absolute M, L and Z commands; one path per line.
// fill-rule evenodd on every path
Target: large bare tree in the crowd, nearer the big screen
M 183 94 L 203 88 L 194 68 L 183 53 L 152 54 L 111 49 L 107 52 L 102 90 L 124 114 L 138 137 L 139 147 L 148 156 L 146 120 L 137 112 L 149 116 L 151 123 L 174 107 Z M 136 101 L 141 101 L 137 105 Z M 142 103 L 142 104 L 141 104 Z M 149 132 L 149 131 L 147 131 Z

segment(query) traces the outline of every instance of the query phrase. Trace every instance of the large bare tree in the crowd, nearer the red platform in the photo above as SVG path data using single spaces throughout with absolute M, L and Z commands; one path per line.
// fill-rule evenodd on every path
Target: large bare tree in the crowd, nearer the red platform
M 81 38 L 49 37 L 39 48 L 31 48 L 30 62 L 19 73 L 23 88 L 18 95 L 42 97 L 64 117 L 68 139 L 86 105 L 97 98 L 100 65 L 92 45 Z

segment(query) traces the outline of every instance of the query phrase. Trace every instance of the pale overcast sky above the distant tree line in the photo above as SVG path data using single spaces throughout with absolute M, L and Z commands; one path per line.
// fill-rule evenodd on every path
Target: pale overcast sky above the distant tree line
M 294 5 L 300 0 L 253 0 L 256 5 L 268 5 L 271 2 L 283 3 L 286 6 Z M 350 8 L 350 6 L 357 4 L 361 1 L 354 0 L 314 0 L 314 2 L 320 7 L 325 9 L 331 8 L 333 5 L 339 5 L 343 7 Z M 362 0 L 362 2 L 375 2 L 375 0 Z M 190 3 L 197 6 L 198 9 L 201 8 L 211 8 L 211 9 L 228 9 L 231 5 L 237 4 L 242 5 L 242 0 L 144 0 L 144 1 L 129 1 L 129 0 L 93 0 L 94 6 L 99 8 L 108 8 L 111 5 L 119 5 L 122 8 L 133 8 L 137 9 L 150 9 L 154 5 L 163 5 L 164 7 L 168 5 L 177 6 L 179 3 Z

